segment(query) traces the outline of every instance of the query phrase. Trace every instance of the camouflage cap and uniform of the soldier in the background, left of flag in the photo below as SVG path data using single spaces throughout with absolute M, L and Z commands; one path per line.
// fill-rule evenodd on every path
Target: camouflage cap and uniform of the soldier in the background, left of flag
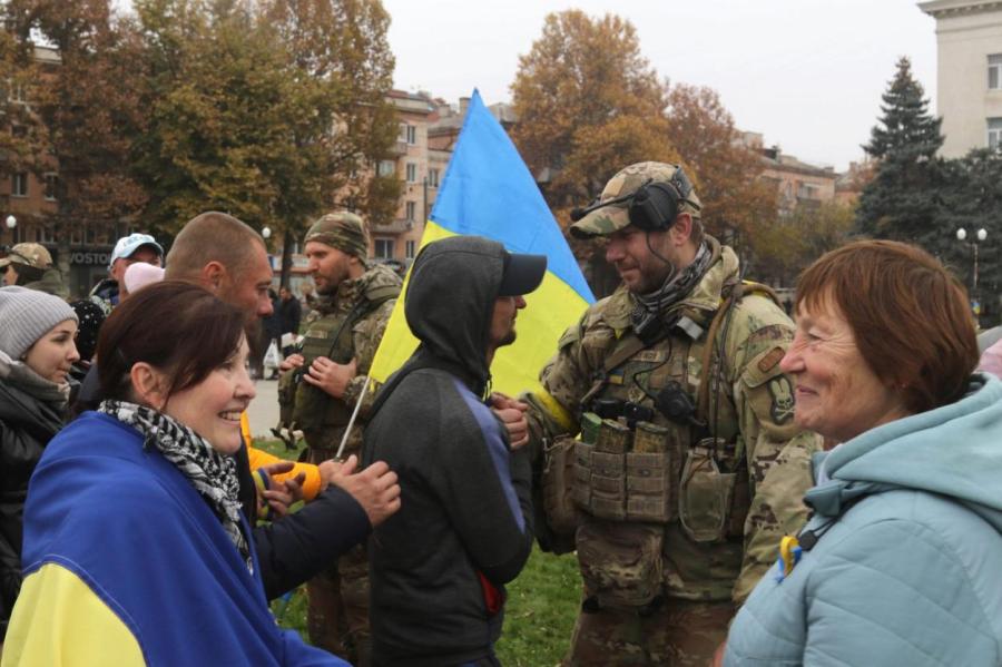
M 347 234 L 345 235 L 345 226 Z M 362 235 L 362 236 L 360 236 Z M 321 218 L 307 233 L 306 241 L 320 241 L 348 254 L 364 253 L 367 236 L 364 225 L 352 214 L 331 214 Z M 364 255 L 361 255 L 364 262 Z M 315 315 L 306 324 L 303 341 L 303 369 L 317 356 L 338 364 L 356 362 L 356 375 L 344 395 L 335 399 L 286 373 L 279 382 L 283 421 L 302 429 L 307 444 L 307 460 L 321 463 L 332 459 L 341 444 L 352 410 L 362 393 L 369 369 L 400 294 L 401 279 L 393 271 L 366 265 L 360 277 L 342 282 L 333 296 L 317 302 Z M 370 382 L 358 421 L 345 444 L 343 457 L 362 459 L 362 428 L 372 405 L 376 388 Z M 306 583 L 308 595 L 307 630 L 311 641 L 341 655 L 355 665 L 370 660 L 369 559 L 364 546 L 355 547 L 332 563 L 326 571 Z

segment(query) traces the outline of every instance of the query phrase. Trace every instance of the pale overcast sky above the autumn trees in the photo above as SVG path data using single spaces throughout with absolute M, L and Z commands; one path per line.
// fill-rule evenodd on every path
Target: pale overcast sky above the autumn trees
M 844 170 L 863 156 L 900 56 L 935 110 L 935 20 L 914 0 L 383 0 L 395 86 L 456 104 L 510 101 L 543 18 L 577 8 L 629 19 L 671 81 L 709 86 L 739 128 Z

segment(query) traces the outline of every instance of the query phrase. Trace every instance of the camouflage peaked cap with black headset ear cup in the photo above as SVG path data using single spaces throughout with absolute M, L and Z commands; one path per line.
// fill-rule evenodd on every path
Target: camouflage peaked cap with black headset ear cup
M 606 184 L 598 200 L 571 214 L 570 232 L 578 238 L 605 236 L 633 224 L 641 229 L 665 229 L 679 213 L 699 217 L 703 205 L 679 165 L 637 163 Z

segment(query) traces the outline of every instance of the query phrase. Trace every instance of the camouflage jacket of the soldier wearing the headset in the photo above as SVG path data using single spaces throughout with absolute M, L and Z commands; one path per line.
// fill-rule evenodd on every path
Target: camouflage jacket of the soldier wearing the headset
M 812 485 L 809 457 L 819 449 L 819 440 L 794 425 L 793 385 L 778 365 L 793 340 L 793 324 L 767 295 L 745 293 L 717 330 L 710 369 L 701 367 L 706 332 L 727 286 L 736 284 L 739 275 L 734 252 L 720 248 L 714 239 L 710 244 L 718 258 L 689 296 L 666 313 L 681 310 L 700 325 L 699 337 L 692 340 L 674 328 L 667 337 L 611 371 L 609 382 L 596 398 L 654 406 L 651 396 L 669 381 L 677 381 L 695 402 L 700 383 L 710 380 L 708 414 L 701 416 L 709 422 L 714 435 L 733 445 L 731 459 L 721 461 L 721 468 L 748 475 L 747 507 L 741 508 L 747 516 L 743 534 L 713 545 L 688 539 L 677 519 L 668 523 L 662 550 L 664 582 L 670 597 L 731 597 L 739 604 L 775 562 L 780 538 L 794 533 L 806 519 L 802 498 Z M 625 286 L 592 305 L 563 334 L 557 354 L 542 370 L 543 391 L 524 396 L 531 406 L 529 421 L 538 465 L 546 442 L 562 433 L 578 432 L 581 401 L 602 372 L 607 356 L 630 332 L 632 306 L 632 296 Z M 706 435 L 705 431 L 679 425 L 657 410 L 654 412 L 652 421 L 681 440 L 684 450 Z M 590 519 L 584 514 L 583 521 Z

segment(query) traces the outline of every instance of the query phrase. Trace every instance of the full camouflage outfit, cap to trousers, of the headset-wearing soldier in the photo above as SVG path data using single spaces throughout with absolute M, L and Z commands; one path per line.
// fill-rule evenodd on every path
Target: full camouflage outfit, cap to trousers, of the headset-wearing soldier
M 628 194 L 667 167 L 628 167 L 602 198 Z M 698 199 L 690 198 L 680 209 L 698 213 Z M 625 215 L 609 206 L 576 227 L 610 233 L 629 224 Z M 793 325 L 768 295 L 754 291 L 721 308 L 739 283 L 738 259 L 715 239 L 706 243 L 710 265 L 662 314 L 669 322 L 681 316 L 665 337 L 605 367 L 637 340 L 630 333 L 635 297 L 620 286 L 563 334 L 540 375 L 543 391 L 525 396 L 537 454 L 549 452 L 554 437 L 577 433 L 582 420 L 587 426 L 569 475 L 580 508 L 572 530 L 584 579 L 570 665 L 705 665 L 726 638 L 735 606 L 775 562 L 779 539 L 806 517 L 800 499 L 812 485 L 809 455 L 818 441 L 794 425 L 792 384 L 779 370 Z M 704 369 L 718 311 L 710 367 Z M 672 382 L 695 398 L 707 381 L 696 420 L 670 421 L 655 406 Z M 651 410 L 637 416 L 635 434 L 623 420 L 586 414 L 602 400 Z M 550 464 L 549 453 L 538 462 Z

